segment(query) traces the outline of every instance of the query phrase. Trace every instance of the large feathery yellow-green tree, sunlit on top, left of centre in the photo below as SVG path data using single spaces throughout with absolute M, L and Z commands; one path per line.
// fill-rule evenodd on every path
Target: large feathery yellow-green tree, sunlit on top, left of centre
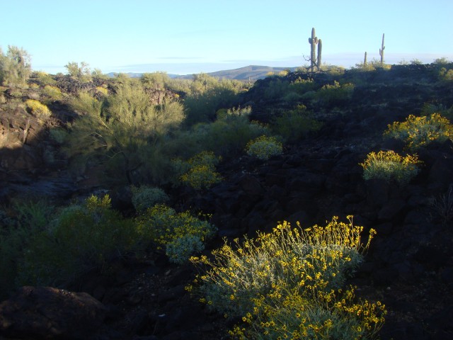
M 68 152 L 115 164 L 132 184 L 133 172 L 148 162 L 144 150 L 177 128 L 185 115 L 176 101 L 154 106 L 138 81 L 119 83 L 115 92 L 98 100 L 82 91 L 71 101 L 81 118 L 71 125 Z

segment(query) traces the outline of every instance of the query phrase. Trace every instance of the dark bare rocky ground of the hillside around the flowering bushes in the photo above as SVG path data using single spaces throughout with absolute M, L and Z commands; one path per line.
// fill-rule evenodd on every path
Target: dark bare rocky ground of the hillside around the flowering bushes
M 268 161 L 245 154 L 228 159 L 219 166 L 224 181 L 202 195 L 168 187 L 171 205 L 212 214 L 219 233 L 210 249 L 222 244 L 222 237 L 254 237 L 282 220 L 309 227 L 324 225 L 333 216 L 354 215 L 355 225 L 377 230 L 350 284 L 357 285 L 360 297 L 387 306 L 381 339 L 452 339 L 452 140 L 421 148 L 421 171 L 404 186 L 365 181 L 359 165 L 372 151 L 403 152 L 401 142 L 382 136 L 387 125 L 420 115 L 427 104 L 446 112 L 452 108 L 452 82 L 440 79 L 439 69 L 407 65 L 344 74 L 290 73 L 256 81 L 241 97 L 243 106 L 252 107 L 251 119 L 269 123 L 279 112 L 304 105 L 321 129 L 287 143 L 283 154 Z M 287 84 L 294 81 L 310 81 L 311 87 L 289 96 Z M 352 83 L 353 90 L 342 96 L 316 95 L 334 81 L 339 86 Z M 47 124 L 71 119 L 67 108 L 54 105 L 59 119 Z M 81 179 L 67 178 L 67 160 L 50 139 L 47 125 L 23 111 L 1 111 L 0 123 L 1 198 L 27 188 L 55 191 L 62 199 L 89 191 Z M 176 266 L 154 253 L 141 261 L 118 259 L 111 266 L 112 277 L 88 273 L 69 290 L 22 288 L 0 303 L 0 336 L 228 339 L 231 324 L 184 290 L 193 279 L 192 266 Z

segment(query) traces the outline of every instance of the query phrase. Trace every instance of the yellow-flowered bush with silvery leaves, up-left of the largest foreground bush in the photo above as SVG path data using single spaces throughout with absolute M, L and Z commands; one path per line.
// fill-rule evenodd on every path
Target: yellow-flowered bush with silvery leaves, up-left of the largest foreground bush
M 190 256 L 205 249 L 206 242 L 217 232 L 207 220 L 190 212 L 176 212 L 166 205 L 154 205 L 137 219 L 142 239 L 165 248 L 169 261 L 185 263 Z M 206 217 L 206 216 L 205 216 Z

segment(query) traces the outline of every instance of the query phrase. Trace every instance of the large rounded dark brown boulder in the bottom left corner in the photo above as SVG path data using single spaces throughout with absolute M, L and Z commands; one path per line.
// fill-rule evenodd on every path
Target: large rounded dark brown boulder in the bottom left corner
M 87 293 L 23 287 L 0 304 L 0 335 L 20 339 L 91 339 L 108 310 Z

